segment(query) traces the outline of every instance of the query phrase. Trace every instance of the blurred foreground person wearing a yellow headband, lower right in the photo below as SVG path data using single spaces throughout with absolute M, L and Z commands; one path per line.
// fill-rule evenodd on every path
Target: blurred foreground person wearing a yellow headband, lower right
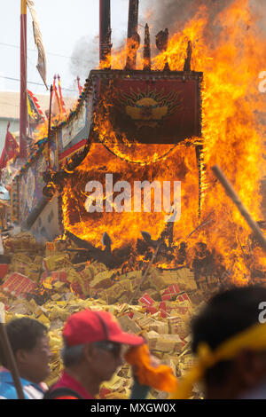
M 197 363 L 173 398 L 192 397 L 192 387 L 200 381 L 206 399 L 266 398 L 262 303 L 266 306 L 266 287 L 259 286 L 232 287 L 207 302 L 192 320 Z

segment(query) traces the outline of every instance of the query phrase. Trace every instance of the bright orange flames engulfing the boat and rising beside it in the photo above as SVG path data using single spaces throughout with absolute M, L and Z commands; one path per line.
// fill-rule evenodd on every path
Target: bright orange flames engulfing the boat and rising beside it
M 177 146 L 134 145 L 129 144 L 127 138 L 119 141 L 110 122 L 100 114 L 96 114 L 95 129 L 112 153 L 103 145 L 93 144 L 76 176 L 67 180 L 63 216 L 66 229 L 96 246 L 99 246 L 103 232 L 111 236 L 113 248 L 128 243 L 135 245 L 137 238 L 141 238 L 141 231 L 150 232 L 156 240 L 165 228 L 164 213 L 105 213 L 104 216 L 94 213 L 90 220 L 84 221 L 85 184 L 82 178 L 86 173 L 86 177 L 100 179 L 103 172 L 110 172 L 118 177 L 124 176 L 128 181 L 177 179 L 182 182 L 182 214 L 179 222 L 174 224 L 176 256 L 180 244 L 185 242 L 187 261 L 192 266 L 195 254 L 200 256 L 197 244 L 206 244 L 217 264 L 222 263 L 235 282 L 241 283 L 250 276 L 247 262 L 250 258 L 247 251 L 250 230 L 215 182 L 210 168 L 218 164 L 254 219 L 262 219 L 262 125 L 255 112 L 263 108 L 257 79 L 263 69 L 266 43 L 247 0 L 236 0 L 218 15 L 216 24 L 221 30 L 217 30 L 214 42 L 210 38 L 207 41 L 208 19 L 208 11 L 202 8 L 182 33 L 176 32 L 169 39 L 167 51 L 152 61 L 153 70 L 162 70 L 166 60 L 171 70 L 183 70 L 190 40 L 193 46 L 192 70 L 204 74 L 203 138 L 199 138 L 199 143 L 204 146 L 200 220 L 199 174 L 194 147 L 187 147 L 185 141 Z M 143 67 L 141 52 L 142 46 L 137 51 L 138 69 Z M 126 55 L 127 47 L 119 53 L 112 53 L 106 67 L 124 68 Z M 207 225 L 197 230 L 207 216 L 210 216 Z M 258 248 L 253 256 L 263 267 L 265 259 Z M 165 266 L 163 262 L 160 264 Z M 176 264 L 175 259 L 168 266 Z

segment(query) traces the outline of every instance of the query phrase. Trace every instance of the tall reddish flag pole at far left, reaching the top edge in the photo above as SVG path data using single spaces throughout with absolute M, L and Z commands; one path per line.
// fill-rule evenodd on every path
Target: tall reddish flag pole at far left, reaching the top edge
M 20 14 L 20 159 L 27 158 L 27 0 Z

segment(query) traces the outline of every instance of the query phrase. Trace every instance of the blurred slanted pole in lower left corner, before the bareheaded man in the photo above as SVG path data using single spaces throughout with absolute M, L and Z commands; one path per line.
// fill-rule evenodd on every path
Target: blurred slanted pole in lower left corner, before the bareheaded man
M 0 342 L 1 347 L 4 353 L 4 358 L 7 361 L 7 366 L 10 372 L 12 373 L 13 382 L 15 389 L 17 391 L 19 399 L 25 399 L 24 392 L 20 382 L 20 374 L 16 365 L 16 361 L 12 352 L 12 347 L 10 345 L 8 335 L 6 334 L 4 326 L 4 303 L 0 303 Z

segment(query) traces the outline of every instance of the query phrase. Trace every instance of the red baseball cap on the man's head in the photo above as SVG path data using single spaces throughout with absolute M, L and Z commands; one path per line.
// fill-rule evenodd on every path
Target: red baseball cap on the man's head
M 63 336 L 68 346 L 110 341 L 137 346 L 145 340 L 136 334 L 125 333 L 107 311 L 83 310 L 69 316 Z

